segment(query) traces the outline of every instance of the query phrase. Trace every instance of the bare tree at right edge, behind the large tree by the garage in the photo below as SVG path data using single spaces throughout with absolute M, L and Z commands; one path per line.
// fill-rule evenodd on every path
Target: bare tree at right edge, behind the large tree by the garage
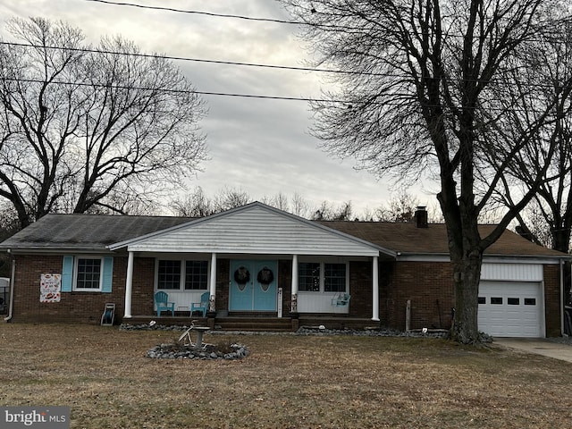
M 568 11 L 555 9 L 566 17 Z M 572 230 L 572 19 L 555 22 L 545 38 L 538 40 L 534 49 L 528 53 L 534 59 L 534 67 L 528 69 L 526 88 L 534 88 L 533 112 L 518 110 L 514 112 L 515 122 L 521 127 L 529 123 L 539 108 L 551 105 L 554 117 L 548 126 L 530 141 L 517 158 L 518 163 L 510 164 L 511 174 L 527 185 L 534 182 L 530 170 L 543 170 L 548 165 L 544 180 L 525 216 L 518 215 L 519 231 L 531 240 L 543 242 L 551 248 L 568 253 Z M 509 79 L 504 76 L 503 79 Z M 528 95 L 520 88 L 520 94 Z M 523 97 L 523 96 L 521 96 Z M 506 91 L 499 101 L 509 108 L 514 97 L 506 97 Z M 551 147 L 556 145 L 554 156 Z M 507 180 L 509 183 L 511 181 Z M 520 189 L 516 189 L 517 191 Z M 515 189 L 507 186 L 501 193 L 501 201 L 511 206 Z M 544 230 L 544 231 L 543 231 Z M 550 237 L 546 237 L 546 233 Z

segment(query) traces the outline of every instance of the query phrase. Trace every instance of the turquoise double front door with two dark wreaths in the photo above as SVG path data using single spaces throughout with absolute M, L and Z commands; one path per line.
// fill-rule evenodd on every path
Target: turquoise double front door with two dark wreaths
M 232 260 L 230 311 L 276 311 L 276 261 Z

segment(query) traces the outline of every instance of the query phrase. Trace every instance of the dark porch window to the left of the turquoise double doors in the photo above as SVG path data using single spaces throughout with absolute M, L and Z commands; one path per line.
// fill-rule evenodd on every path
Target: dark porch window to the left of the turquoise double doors
M 208 261 L 157 261 L 157 290 L 208 290 Z

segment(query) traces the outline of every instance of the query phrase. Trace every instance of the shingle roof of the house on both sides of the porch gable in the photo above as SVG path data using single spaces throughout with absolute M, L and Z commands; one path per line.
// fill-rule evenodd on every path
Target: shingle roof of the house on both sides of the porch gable
M 97 214 L 47 214 L 38 222 L 0 243 L 0 249 L 14 250 L 93 250 L 105 251 L 105 247 L 124 240 L 161 231 L 191 218 L 169 216 L 110 216 Z M 444 224 L 430 224 L 417 228 L 415 223 L 379 222 L 319 222 L 382 248 L 404 254 L 448 255 L 447 231 Z M 483 233 L 493 225 L 481 227 Z M 543 248 L 523 239 L 512 231 L 505 231 L 501 239 L 486 251 L 490 255 L 527 257 L 564 257 L 565 255 Z

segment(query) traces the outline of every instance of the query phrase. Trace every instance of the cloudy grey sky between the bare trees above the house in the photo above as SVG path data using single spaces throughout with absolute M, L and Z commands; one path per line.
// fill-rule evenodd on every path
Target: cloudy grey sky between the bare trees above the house
M 180 11 L 289 20 L 273 0 L 118 0 L 111 3 L 174 8 Z M 0 16 L 41 16 L 82 29 L 89 42 L 121 34 L 143 52 L 236 63 L 305 66 L 308 52 L 296 27 L 199 13 L 181 13 L 94 0 L 4 0 Z M 320 73 L 195 61 L 175 62 L 198 91 L 276 97 L 320 97 L 328 82 Z M 299 194 L 312 206 L 351 201 L 355 214 L 381 206 L 391 192 L 355 170 L 354 160 L 332 158 L 308 134 L 307 102 L 246 97 L 204 96 L 208 108 L 201 128 L 210 160 L 189 182 L 207 197 L 224 187 L 241 189 L 252 199 L 282 192 Z M 416 192 L 432 205 L 429 190 Z

